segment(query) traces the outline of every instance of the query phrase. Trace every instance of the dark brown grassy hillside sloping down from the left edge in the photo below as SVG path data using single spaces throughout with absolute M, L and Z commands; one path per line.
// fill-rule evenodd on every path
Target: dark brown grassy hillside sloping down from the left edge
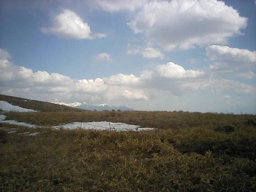
M 36 101 L 30 99 L 24 99 L 21 97 L 15 96 L 5 96 L 0 95 L 0 101 L 7 101 L 12 105 L 20 106 L 27 109 L 33 109 L 40 112 L 77 112 L 83 111 L 82 109 L 77 109 L 73 107 L 62 106 L 54 103 L 44 102 L 44 101 Z

